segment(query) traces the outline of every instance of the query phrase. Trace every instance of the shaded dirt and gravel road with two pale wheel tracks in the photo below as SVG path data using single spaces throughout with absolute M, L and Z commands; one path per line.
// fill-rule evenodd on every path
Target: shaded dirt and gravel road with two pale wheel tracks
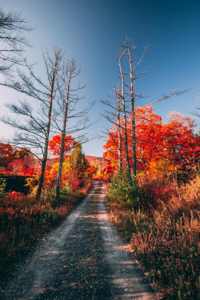
M 2 300 L 157 299 L 105 209 L 105 183 L 89 194 L 0 287 Z

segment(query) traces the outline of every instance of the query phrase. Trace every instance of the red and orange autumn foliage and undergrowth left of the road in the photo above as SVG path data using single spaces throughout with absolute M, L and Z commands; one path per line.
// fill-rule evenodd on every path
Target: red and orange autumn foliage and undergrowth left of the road
M 72 149 L 75 145 L 76 147 Z M 25 179 L 26 188 L 29 189 L 27 195 L 14 190 L 5 191 L 7 174 L 0 177 L 0 270 L 2 271 L 5 263 L 36 244 L 44 232 L 63 219 L 80 201 L 90 188 L 89 179 L 93 171 L 82 152 L 81 145 L 77 145 L 71 136 L 66 136 L 61 198 L 56 200 L 54 197 L 58 169 L 58 159 L 55 157 L 48 160 L 41 198 L 35 200 L 38 175 L 35 172 L 31 173 L 31 167 L 34 170 L 35 159 L 28 151 L 17 150 L 9 144 L 1 146 L 1 156 L 6 159 L 6 168 L 3 167 L 1 173 L 29 174 Z M 50 147 L 57 156 L 59 136 L 51 139 Z

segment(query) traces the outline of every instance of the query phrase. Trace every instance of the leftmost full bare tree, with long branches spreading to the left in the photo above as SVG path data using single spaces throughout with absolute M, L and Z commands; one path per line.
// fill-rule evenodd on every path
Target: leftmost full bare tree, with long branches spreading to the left
M 20 81 L 14 81 L 9 83 L 9 87 L 27 95 L 30 99 L 38 100 L 39 109 L 36 115 L 33 114 L 33 110 L 27 101 L 21 101 L 19 105 L 8 104 L 8 108 L 11 112 L 14 112 L 20 116 L 25 116 L 26 120 L 17 122 L 15 118 L 4 116 L 1 120 L 18 129 L 13 142 L 16 145 L 38 149 L 41 152 L 37 157 L 41 161 L 41 170 L 39 175 L 39 181 L 36 192 L 36 199 L 40 198 L 42 183 L 44 179 L 44 171 L 48 153 L 48 140 L 51 126 L 51 113 L 52 103 L 56 95 L 58 88 L 58 72 L 60 69 L 60 61 L 62 59 L 61 50 L 54 48 L 54 57 L 51 57 L 46 52 L 43 54 L 43 61 L 45 66 L 45 73 L 47 80 L 42 80 L 36 76 L 32 70 L 32 67 L 26 64 L 28 69 L 28 75 L 24 71 L 17 70 Z M 35 154 L 33 152 L 33 154 Z

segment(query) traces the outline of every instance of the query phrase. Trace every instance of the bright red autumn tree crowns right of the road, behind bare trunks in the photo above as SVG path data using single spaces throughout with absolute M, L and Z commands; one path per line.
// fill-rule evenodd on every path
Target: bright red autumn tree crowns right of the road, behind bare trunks
M 131 118 L 131 116 L 130 116 Z M 162 123 L 152 106 L 135 108 L 136 164 L 139 172 L 157 176 L 158 173 L 189 173 L 199 165 L 200 137 L 194 133 L 191 117 L 177 112 L 168 114 L 169 122 Z M 131 164 L 131 122 L 127 121 L 128 154 Z M 104 144 L 104 157 L 117 169 L 117 129 L 113 126 Z M 125 160 L 122 136 L 122 159 Z

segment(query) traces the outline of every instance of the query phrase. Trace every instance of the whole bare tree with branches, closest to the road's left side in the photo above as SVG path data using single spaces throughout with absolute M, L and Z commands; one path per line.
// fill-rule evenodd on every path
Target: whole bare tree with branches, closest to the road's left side
M 59 199 L 60 196 L 60 184 L 61 184 L 61 175 L 62 175 L 62 164 L 64 160 L 64 141 L 66 134 L 74 134 L 79 132 L 76 139 L 78 140 L 77 145 L 80 145 L 89 140 L 86 137 L 86 133 L 84 132 L 91 123 L 89 119 L 86 117 L 90 107 L 93 105 L 91 103 L 89 106 L 84 107 L 77 111 L 77 104 L 83 96 L 78 95 L 78 91 L 84 88 L 84 84 L 73 88 L 73 81 L 76 76 L 80 73 L 80 68 L 77 66 L 76 61 L 72 58 L 71 60 L 67 60 L 66 63 L 63 64 L 62 74 L 60 76 L 60 84 L 59 86 L 59 94 L 56 99 L 57 106 L 59 110 L 54 111 L 53 117 L 53 128 L 54 133 L 61 133 L 61 144 L 60 144 L 60 155 L 59 155 L 59 166 L 57 171 L 57 180 L 56 180 L 56 188 L 55 188 L 55 197 Z M 70 119 L 78 119 L 75 124 L 71 124 Z M 68 126 L 66 127 L 66 124 Z M 58 131 L 57 131 L 58 130 Z M 80 133 L 82 132 L 82 133 Z

